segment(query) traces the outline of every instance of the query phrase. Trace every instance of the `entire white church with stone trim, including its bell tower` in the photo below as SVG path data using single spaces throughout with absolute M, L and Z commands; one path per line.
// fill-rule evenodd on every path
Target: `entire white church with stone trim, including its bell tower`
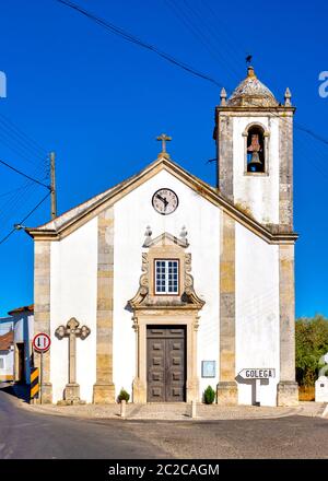
M 141 173 L 36 228 L 43 402 L 297 403 L 293 115 L 247 78 L 215 109 L 218 186 L 173 162 L 165 136 Z M 110 179 L 109 179 L 110 181 Z M 39 366 L 39 354 L 34 353 Z

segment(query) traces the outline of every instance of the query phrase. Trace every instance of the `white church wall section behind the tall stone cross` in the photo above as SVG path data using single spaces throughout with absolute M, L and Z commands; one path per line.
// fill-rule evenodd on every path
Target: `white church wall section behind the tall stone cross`
M 55 330 L 71 317 L 91 329 L 85 340 L 77 339 L 77 382 L 81 399 L 92 402 L 96 379 L 97 218 L 51 243 L 50 268 L 52 402 L 62 399 L 68 383 L 68 339 L 58 340 Z

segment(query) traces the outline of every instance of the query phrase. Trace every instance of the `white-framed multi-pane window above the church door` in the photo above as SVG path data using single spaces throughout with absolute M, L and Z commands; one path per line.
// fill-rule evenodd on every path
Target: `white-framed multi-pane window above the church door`
M 155 294 L 178 294 L 179 261 L 173 259 L 155 260 Z

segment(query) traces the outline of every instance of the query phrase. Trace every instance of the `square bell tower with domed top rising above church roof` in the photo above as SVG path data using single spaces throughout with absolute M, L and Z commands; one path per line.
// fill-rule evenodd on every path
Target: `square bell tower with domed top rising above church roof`
M 289 89 L 279 104 L 253 67 L 215 109 L 218 188 L 274 232 L 293 231 L 294 112 Z

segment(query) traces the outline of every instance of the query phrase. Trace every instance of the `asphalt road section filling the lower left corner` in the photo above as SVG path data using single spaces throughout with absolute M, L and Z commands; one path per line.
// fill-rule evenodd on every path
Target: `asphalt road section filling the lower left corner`
M 30 413 L 0 389 L 0 459 L 161 458 L 157 447 L 131 434 L 124 421 Z M 166 454 L 167 457 L 167 454 Z

